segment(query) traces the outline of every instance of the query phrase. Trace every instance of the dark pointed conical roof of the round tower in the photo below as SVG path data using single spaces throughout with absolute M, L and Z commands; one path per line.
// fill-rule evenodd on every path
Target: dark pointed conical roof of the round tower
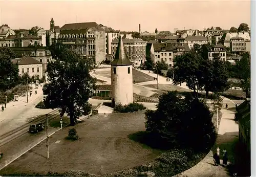
M 132 65 L 132 62 L 129 60 L 128 56 L 126 55 L 121 35 L 119 36 L 116 55 L 115 55 L 115 58 L 112 61 L 111 65 L 118 65 L 118 66 L 120 66 L 120 65 Z

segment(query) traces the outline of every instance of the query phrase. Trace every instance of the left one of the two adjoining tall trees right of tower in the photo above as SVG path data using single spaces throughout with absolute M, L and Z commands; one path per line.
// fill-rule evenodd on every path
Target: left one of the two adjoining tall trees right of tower
M 174 58 L 174 79 L 175 85 L 186 82 L 189 89 L 194 91 L 202 89 L 202 84 L 199 79 L 202 77 L 199 72 L 199 65 L 202 57 L 195 51 L 190 51 Z

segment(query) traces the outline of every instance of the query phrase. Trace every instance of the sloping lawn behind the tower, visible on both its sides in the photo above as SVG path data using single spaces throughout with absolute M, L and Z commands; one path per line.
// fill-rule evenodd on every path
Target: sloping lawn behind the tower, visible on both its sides
M 110 70 L 95 71 L 94 74 L 111 78 Z M 135 81 L 136 83 L 147 82 L 152 80 L 154 80 L 154 77 L 133 69 L 133 81 Z

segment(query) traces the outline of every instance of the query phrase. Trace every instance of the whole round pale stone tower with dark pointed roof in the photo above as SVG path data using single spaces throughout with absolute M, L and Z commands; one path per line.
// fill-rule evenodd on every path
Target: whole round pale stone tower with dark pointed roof
M 121 36 L 111 63 L 111 96 L 112 106 L 133 102 L 133 67 L 126 55 Z

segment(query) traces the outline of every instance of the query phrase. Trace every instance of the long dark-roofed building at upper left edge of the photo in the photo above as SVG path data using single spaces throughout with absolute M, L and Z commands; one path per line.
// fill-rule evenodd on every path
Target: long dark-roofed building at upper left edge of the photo
M 17 35 L 9 35 L 0 39 L 0 47 L 29 47 L 41 46 L 42 39 L 31 34 L 19 33 Z

